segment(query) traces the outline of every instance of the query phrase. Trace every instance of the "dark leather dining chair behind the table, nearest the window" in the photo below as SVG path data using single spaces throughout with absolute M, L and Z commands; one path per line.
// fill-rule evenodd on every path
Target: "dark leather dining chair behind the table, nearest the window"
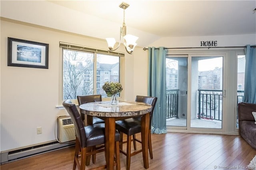
M 77 101 L 78 105 L 82 105 L 84 103 L 91 103 L 91 102 L 96 102 L 96 101 L 102 101 L 101 95 L 79 95 L 77 96 Z M 81 111 L 80 111 L 81 113 Z M 84 125 L 87 125 L 87 120 L 84 121 L 85 115 L 81 114 L 82 116 L 82 121 L 84 122 Z M 92 117 L 92 123 L 104 123 L 102 119 L 99 119 L 98 117 Z

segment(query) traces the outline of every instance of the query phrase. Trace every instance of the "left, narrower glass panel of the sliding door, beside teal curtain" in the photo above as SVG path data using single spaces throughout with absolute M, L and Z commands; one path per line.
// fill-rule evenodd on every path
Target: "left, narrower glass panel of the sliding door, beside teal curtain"
M 166 57 L 166 125 L 187 126 L 188 57 Z

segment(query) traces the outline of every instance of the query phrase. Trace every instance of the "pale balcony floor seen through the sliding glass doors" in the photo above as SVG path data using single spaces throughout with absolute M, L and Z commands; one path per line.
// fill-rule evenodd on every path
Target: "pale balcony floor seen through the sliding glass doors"
M 168 118 L 166 119 L 166 126 L 186 127 L 187 119 L 184 118 Z M 191 127 L 195 128 L 222 128 L 221 121 L 207 120 L 207 119 L 192 119 Z

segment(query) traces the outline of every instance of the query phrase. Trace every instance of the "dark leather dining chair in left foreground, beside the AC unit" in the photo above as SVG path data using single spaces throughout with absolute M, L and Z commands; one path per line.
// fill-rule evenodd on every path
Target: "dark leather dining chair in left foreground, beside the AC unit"
M 70 115 L 74 123 L 75 132 L 76 132 L 76 146 L 75 146 L 73 170 L 76 169 L 76 166 L 78 166 L 79 170 L 85 170 L 87 156 L 105 151 L 104 148 L 103 149 L 101 148 L 99 150 L 88 149 L 88 147 L 105 143 L 105 137 L 104 137 L 105 124 L 97 123 L 93 125 L 84 126 L 81 115 L 79 114 L 76 105 L 72 103 L 70 99 L 64 101 L 62 105 L 68 111 L 68 114 Z M 115 165 L 117 170 L 120 170 L 119 140 L 120 140 L 120 134 L 116 131 Z M 81 152 L 80 155 L 79 155 L 79 152 Z M 80 158 L 80 161 L 79 161 L 79 158 Z M 99 166 L 93 169 L 102 169 L 102 168 L 106 168 L 106 165 Z

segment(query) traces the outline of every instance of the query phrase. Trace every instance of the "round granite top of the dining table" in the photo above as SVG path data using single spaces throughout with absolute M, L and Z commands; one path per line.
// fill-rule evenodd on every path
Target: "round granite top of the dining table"
M 110 101 L 80 105 L 81 113 L 96 117 L 132 117 L 144 115 L 151 110 L 151 105 L 136 101 L 119 102 L 117 105 L 111 105 Z

